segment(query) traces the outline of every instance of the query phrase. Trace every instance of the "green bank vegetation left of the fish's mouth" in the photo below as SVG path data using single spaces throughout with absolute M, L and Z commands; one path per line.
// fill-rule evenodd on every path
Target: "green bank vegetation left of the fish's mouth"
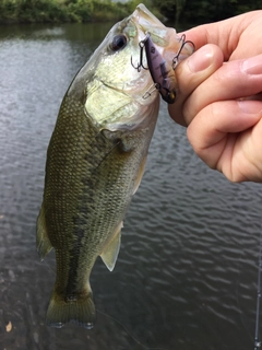
M 1 23 L 106 22 L 129 15 L 141 1 L 0 0 Z M 150 7 L 150 1 L 145 4 Z M 152 7 L 151 7 L 152 8 Z

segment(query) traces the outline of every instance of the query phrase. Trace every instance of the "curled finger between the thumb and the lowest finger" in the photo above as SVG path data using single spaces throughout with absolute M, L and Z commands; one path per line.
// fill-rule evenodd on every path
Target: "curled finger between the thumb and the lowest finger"
M 219 101 L 237 100 L 262 91 L 262 55 L 224 63 L 183 104 L 183 118 L 189 125 L 205 106 Z

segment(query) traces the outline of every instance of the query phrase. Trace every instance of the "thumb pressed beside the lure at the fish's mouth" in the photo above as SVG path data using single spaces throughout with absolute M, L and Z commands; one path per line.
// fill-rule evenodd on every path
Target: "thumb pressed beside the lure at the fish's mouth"
M 180 125 L 187 125 L 182 112 L 184 101 L 222 63 L 223 55 L 221 49 L 215 45 L 206 45 L 178 65 L 176 68 L 178 97 L 175 104 L 168 105 L 169 115 L 174 120 Z

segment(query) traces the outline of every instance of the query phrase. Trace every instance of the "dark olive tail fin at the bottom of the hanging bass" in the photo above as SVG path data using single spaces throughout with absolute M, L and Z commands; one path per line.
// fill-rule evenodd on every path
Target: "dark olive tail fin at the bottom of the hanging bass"
M 94 327 L 95 304 L 92 292 L 67 302 L 53 290 L 47 308 L 46 323 L 48 326 L 61 328 L 68 322 L 73 322 L 87 329 Z

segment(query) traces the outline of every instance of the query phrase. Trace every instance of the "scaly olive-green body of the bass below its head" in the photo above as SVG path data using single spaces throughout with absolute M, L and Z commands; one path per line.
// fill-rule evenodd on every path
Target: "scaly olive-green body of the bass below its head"
M 70 317 L 92 327 L 90 273 L 114 235 L 120 237 L 123 215 L 143 173 L 154 119 L 151 127 L 138 131 L 99 130 L 80 102 L 64 97 L 47 152 L 38 250 L 43 258 L 51 246 L 56 250 L 57 303 L 90 299 L 91 305 L 87 318 L 81 312 L 67 316 L 49 307 L 48 324 L 60 327 Z

